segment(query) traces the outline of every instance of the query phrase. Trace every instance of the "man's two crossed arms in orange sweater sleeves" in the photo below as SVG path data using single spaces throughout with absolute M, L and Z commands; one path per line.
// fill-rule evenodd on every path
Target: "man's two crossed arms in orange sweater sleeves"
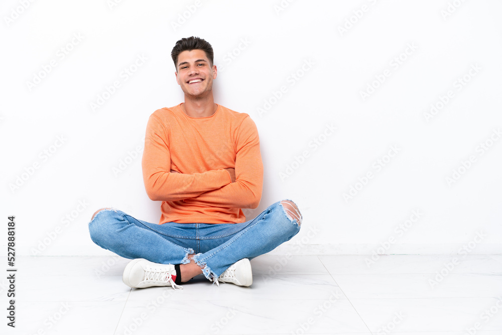
M 152 116 L 142 159 L 145 188 L 152 200 L 181 200 L 228 208 L 258 207 L 262 196 L 263 164 L 258 131 L 250 118 L 242 122 L 238 131 L 234 167 L 195 174 L 177 173 L 171 170 L 167 139 L 162 122 Z

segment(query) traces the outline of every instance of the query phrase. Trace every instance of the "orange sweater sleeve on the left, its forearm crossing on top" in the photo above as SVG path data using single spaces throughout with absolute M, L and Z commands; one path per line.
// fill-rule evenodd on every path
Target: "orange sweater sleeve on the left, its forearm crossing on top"
M 204 173 L 172 173 L 168 127 L 156 115 L 148 120 L 142 158 L 143 181 L 152 200 L 178 201 L 231 183 L 224 169 Z

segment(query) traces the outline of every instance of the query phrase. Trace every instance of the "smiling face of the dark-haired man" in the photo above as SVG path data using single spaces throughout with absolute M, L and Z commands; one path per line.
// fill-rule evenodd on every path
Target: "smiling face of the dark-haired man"
M 202 97 L 212 90 L 216 65 L 211 66 L 204 50 L 181 52 L 177 66 L 176 81 L 185 95 Z

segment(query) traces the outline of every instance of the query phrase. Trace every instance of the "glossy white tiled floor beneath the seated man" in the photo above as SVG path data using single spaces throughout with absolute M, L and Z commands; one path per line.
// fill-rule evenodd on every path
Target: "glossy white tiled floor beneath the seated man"
M 264 255 L 251 287 L 196 277 L 174 290 L 130 289 L 119 257 L 18 257 L 16 328 L 2 275 L 1 333 L 502 334 L 502 255 L 366 260 Z

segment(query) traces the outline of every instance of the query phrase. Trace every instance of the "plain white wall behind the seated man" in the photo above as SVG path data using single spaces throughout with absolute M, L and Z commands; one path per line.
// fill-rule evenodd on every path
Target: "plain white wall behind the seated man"
M 141 174 L 145 127 L 182 101 L 170 52 L 192 35 L 214 48 L 215 101 L 260 132 L 265 188 L 247 213 L 282 198 L 303 211 L 302 232 L 276 252 L 502 252 L 500 2 L 116 2 L 2 3 L 0 214 L 16 215 L 18 255 L 108 254 L 87 229 L 104 206 L 158 222 Z

